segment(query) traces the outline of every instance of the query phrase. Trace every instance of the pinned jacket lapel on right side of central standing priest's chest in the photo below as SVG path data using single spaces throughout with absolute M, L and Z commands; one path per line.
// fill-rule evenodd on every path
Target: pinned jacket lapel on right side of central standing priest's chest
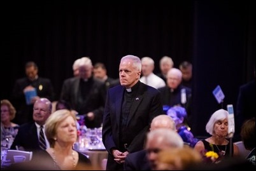
M 134 100 L 132 101 L 132 107 L 128 116 L 127 125 L 129 124 L 129 121 L 131 120 L 132 116 L 135 114 L 136 110 L 138 109 L 139 104 L 141 104 L 142 99 L 143 99 L 143 86 L 140 83 L 138 90 L 136 92 L 136 95 L 134 97 Z

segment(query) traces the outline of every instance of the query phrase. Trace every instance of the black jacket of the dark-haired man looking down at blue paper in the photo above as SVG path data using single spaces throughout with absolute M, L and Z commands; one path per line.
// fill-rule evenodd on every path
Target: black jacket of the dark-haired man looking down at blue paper
M 38 79 L 34 81 L 30 81 L 27 78 L 17 79 L 15 85 L 13 86 L 13 91 L 11 93 L 11 102 L 17 110 L 17 114 L 13 122 L 18 123 L 19 125 L 27 123 L 28 121 L 33 121 L 33 105 L 27 105 L 25 103 L 25 95 L 23 92 L 24 88 L 29 85 L 34 86 L 34 88 L 36 88 L 36 92 L 39 97 L 45 97 L 50 101 L 53 101 L 55 98 L 55 93 L 53 91 L 53 86 L 50 79 L 41 77 L 38 77 Z

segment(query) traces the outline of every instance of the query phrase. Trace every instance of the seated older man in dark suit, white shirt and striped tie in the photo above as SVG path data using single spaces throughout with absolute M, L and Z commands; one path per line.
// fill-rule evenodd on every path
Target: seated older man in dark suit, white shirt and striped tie
M 52 113 L 52 102 L 46 98 L 41 98 L 34 102 L 33 120 L 25 123 L 18 128 L 18 133 L 11 144 L 10 149 L 24 149 L 25 151 L 37 151 L 39 147 L 39 130 L 41 125 L 45 125 L 45 121 Z M 46 139 L 46 147 L 49 142 Z

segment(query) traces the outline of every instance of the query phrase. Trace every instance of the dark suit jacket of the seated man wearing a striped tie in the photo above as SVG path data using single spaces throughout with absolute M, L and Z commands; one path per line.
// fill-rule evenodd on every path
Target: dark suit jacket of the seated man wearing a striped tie
M 34 121 L 20 126 L 10 149 L 16 149 L 16 146 L 24 147 L 25 151 L 41 150 L 39 147 L 38 132 Z

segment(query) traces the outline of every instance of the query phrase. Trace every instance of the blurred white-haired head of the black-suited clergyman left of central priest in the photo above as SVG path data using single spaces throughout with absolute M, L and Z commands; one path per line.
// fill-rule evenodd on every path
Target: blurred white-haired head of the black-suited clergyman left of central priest
M 79 63 L 79 76 L 82 79 L 89 79 L 92 77 L 92 61 L 89 57 L 80 58 Z

